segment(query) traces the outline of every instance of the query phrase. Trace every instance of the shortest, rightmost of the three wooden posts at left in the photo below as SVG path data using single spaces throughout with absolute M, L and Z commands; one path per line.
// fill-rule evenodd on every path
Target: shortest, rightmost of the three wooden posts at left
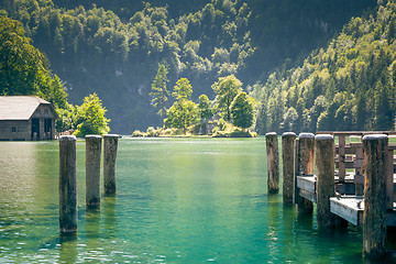
M 105 150 L 103 150 L 103 182 L 105 195 L 113 195 L 117 191 L 116 186 L 116 158 L 118 147 L 117 134 L 105 135 Z

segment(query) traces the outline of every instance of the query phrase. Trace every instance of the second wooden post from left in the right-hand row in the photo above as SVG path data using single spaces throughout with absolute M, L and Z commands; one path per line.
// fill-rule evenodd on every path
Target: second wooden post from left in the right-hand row
M 293 202 L 295 141 L 296 141 L 296 133 L 285 132 L 282 134 L 283 201 L 284 202 Z

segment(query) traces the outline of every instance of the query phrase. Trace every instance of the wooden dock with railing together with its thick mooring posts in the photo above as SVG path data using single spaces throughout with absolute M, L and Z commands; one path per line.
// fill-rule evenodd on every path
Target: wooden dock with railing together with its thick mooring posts
M 386 227 L 396 227 L 396 132 L 317 133 L 316 174 L 312 144 L 306 143 L 312 136 L 307 134 L 295 140 L 294 151 L 283 150 L 294 153 L 293 200 L 298 211 L 311 212 L 310 205 L 317 204 L 319 228 L 334 226 L 334 217 L 362 227 L 363 254 L 381 257 L 386 252 Z

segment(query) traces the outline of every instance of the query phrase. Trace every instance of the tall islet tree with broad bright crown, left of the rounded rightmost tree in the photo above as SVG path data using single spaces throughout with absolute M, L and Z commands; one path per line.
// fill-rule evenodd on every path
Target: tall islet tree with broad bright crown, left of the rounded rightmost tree
M 242 82 L 234 76 L 220 77 L 217 82 L 212 85 L 212 89 L 217 95 L 217 103 L 222 117 L 227 121 L 231 121 L 231 103 L 235 96 L 242 91 Z

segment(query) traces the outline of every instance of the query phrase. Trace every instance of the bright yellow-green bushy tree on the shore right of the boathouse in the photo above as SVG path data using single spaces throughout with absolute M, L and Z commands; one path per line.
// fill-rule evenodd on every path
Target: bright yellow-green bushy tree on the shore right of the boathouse
M 110 131 L 109 119 L 105 118 L 106 108 L 96 94 L 84 98 L 84 103 L 77 107 L 77 130 L 75 135 L 84 138 L 87 134 L 103 135 Z

